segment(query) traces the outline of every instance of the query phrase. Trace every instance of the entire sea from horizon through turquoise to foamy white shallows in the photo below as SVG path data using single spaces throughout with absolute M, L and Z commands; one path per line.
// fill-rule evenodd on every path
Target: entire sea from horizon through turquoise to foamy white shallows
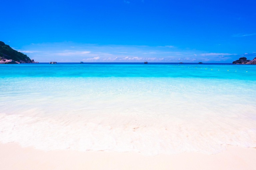
M 49 150 L 256 147 L 256 65 L 0 65 L 0 142 Z

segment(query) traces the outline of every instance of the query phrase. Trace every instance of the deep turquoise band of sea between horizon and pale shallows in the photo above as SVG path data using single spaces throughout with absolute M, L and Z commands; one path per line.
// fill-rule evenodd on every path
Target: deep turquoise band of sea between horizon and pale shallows
M 4 77 L 199 77 L 255 80 L 255 65 L 195 63 L 3 64 Z M 229 72 L 228 72 L 229 71 Z M 247 71 L 247 72 L 246 72 Z M 253 75 L 252 75 L 253 74 Z

